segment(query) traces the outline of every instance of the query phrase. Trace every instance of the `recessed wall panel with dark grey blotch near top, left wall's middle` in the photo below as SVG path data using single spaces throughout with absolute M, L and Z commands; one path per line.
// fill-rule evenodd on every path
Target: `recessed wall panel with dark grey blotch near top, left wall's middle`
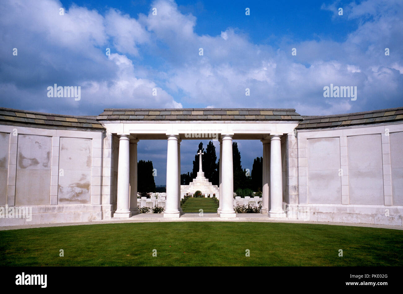
M 15 205 L 50 204 L 52 138 L 19 135 Z

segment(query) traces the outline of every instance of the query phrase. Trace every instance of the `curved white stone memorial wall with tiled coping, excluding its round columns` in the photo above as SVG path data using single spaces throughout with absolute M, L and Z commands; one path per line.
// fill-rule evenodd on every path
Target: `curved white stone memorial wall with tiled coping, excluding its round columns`
M 270 134 L 282 134 L 286 218 L 402 225 L 400 107 L 308 117 L 295 109 L 106 109 L 96 117 L 0 108 L 0 226 L 111 219 L 117 209 L 119 136 L 108 130 L 132 123 L 133 133 L 141 123 L 172 121 L 206 123 L 208 130 L 212 123 L 239 123 L 249 133 L 233 131 L 233 140 L 263 144 L 270 143 Z M 29 212 L 29 218 L 21 217 Z

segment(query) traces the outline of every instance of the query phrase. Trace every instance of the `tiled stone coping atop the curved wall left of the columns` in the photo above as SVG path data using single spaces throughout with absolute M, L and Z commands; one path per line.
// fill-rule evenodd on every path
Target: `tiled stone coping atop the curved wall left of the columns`
M 31 123 L 39 125 L 52 125 L 58 127 L 84 127 L 104 129 L 96 120 L 96 116 L 74 116 L 25 111 L 0 107 L 0 121 L 13 123 Z

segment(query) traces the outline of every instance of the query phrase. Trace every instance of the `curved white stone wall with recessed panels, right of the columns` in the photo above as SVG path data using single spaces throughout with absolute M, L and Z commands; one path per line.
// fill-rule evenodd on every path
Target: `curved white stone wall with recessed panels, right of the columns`
M 297 134 L 298 204 L 310 220 L 402 225 L 403 123 Z M 289 213 L 291 216 L 291 213 Z

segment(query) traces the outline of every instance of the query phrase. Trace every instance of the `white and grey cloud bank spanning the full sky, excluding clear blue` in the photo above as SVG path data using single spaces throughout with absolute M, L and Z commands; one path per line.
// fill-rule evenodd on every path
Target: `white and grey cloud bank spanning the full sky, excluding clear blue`
M 94 111 L 94 106 L 186 103 L 187 107 L 293 107 L 304 115 L 319 115 L 384 108 L 385 100 L 401 99 L 403 10 L 396 1 L 346 6 L 346 20 L 357 21 L 358 26 L 343 42 L 328 37 L 295 43 L 285 38 L 278 49 L 253 43 L 237 28 L 199 35 L 194 31 L 195 16 L 181 13 L 173 1 L 154 1 L 149 13 L 137 19 L 116 9 L 102 16 L 78 6 L 66 8 L 60 16 L 59 7 L 60 2 L 52 0 L 5 1 L 0 37 L 8 47 L 18 47 L 19 56 L 14 58 L 8 47 L 0 48 L 2 96 L 42 109 L 47 103 L 40 98 L 46 85 L 82 85 L 80 104 L 59 101 L 50 106 L 82 114 Z M 152 15 L 153 7 L 157 15 Z M 337 7 L 337 2 L 322 6 L 332 11 Z M 297 56 L 291 56 L 290 42 Z M 106 47 L 112 47 L 109 57 Z M 384 55 L 385 47 L 390 56 Z M 143 52 L 150 59 L 144 60 Z M 357 101 L 324 99 L 323 87 L 330 83 L 357 86 Z M 153 88 L 157 96 L 152 96 Z M 250 96 L 245 96 L 245 88 Z

